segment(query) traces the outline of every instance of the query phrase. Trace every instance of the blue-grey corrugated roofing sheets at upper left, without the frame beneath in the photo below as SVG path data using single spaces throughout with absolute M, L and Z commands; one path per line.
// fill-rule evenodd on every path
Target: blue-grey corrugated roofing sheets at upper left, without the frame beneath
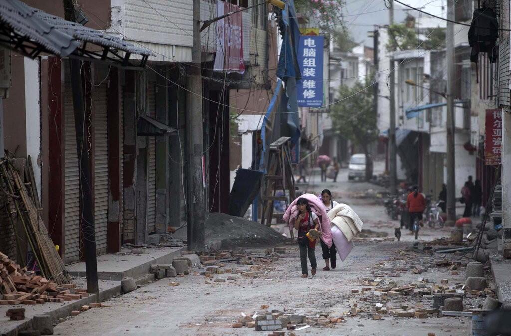
M 27 53 L 24 48 L 47 51 L 58 56 L 89 56 L 85 53 L 82 42 L 90 42 L 97 46 L 115 49 L 117 52 L 129 54 L 138 54 L 142 56 L 152 56 L 153 53 L 144 48 L 134 47 L 133 44 L 125 42 L 118 37 L 107 35 L 106 33 L 83 27 L 80 24 L 66 21 L 61 17 L 50 15 L 39 9 L 30 7 L 18 0 L 2 0 L 0 2 L 0 25 L 4 26 L 0 30 L 2 41 L 13 42 L 13 35 L 17 35 L 16 40 L 25 38 L 29 43 L 21 47 L 21 51 Z M 6 31 L 7 28 L 7 31 Z M 11 34 L 9 34 L 9 31 Z M 3 35 L 3 36 L 2 36 Z M 9 41 L 6 41 L 6 37 Z M 24 43 L 25 44 L 25 43 Z M 36 44 L 36 47 L 33 45 Z M 20 46 L 16 46 L 19 50 Z M 41 50 L 42 49 L 42 50 Z M 30 55 L 35 57 L 37 55 Z M 116 55 L 120 58 L 119 55 Z

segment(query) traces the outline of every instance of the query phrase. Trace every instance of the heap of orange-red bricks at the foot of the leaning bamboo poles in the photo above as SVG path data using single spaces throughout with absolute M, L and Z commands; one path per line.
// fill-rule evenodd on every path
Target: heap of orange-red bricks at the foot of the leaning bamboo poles
M 85 289 L 75 287 L 74 283 L 58 285 L 33 271 L 27 271 L 27 267 L 21 268 L 0 252 L 0 304 L 64 302 L 88 296 Z

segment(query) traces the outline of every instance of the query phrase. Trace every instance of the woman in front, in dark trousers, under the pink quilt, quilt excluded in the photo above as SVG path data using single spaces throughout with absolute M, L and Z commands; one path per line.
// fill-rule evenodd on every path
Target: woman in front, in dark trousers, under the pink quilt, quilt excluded
M 319 229 L 319 220 L 316 213 L 314 213 L 309 205 L 307 198 L 300 197 L 296 202 L 296 207 L 300 212 L 298 218 L 294 222 L 294 228 L 298 230 L 298 244 L 300 245 L 300 263 L 301 263 L 301 277 L 307 278 L 309 271 L 307 267 L 307 256 L 311 262 L 312 275 L 316 274 L 316 241 L 309 240 L 306 236 L 309 230 Z

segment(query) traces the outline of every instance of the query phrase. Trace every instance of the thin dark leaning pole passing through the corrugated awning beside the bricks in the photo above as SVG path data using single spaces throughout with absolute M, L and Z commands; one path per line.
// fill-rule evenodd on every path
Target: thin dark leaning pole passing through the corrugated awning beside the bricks
M 77 0 L 63 0 L 64 16 L 68 21 L 76 22 L 75 4 Z M 75 3 L 75 4 L 74 4 Z M 87 292 L 95 293 L 99 300 L 98 260 L 96 256 L 96 231 L 94 213 L 92 211 L 92 178 L 90 171 L 89 142 L 85 125 L 85 103 L 82 88 L 80 68 L 82 61 L 71 59 L 71 88 L 73 91 L 73 108 L 75 110 L 76 145 L 78 150 L 78 170 L 80 172 L 80 227 L 83 235 L 83 250 L 85 256 L 85 272 L 87 276 Z

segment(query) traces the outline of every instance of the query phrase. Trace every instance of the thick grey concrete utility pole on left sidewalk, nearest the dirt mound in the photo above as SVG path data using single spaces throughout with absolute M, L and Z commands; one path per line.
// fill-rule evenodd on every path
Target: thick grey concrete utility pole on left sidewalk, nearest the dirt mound
M 188 68 L 187 86 L 187 242 L 188 250 L 204 251 L 204 186 L 203 186 L 203 144 L 202 144 L 202 79 L 200 73 L 200 0 L 193 0 L 193 49 L 192 65 Z

